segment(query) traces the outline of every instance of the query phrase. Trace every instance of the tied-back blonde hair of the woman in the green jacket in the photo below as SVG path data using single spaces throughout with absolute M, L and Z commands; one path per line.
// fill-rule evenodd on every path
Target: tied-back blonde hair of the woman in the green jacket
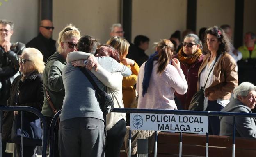
M 59 38 L 57 40 L 59 46 L 57 48 L 57 51 L 59 53 L 62 53 L 61 42 L 63 42 L 64 40 L 73 38 L 73 37 L 76 37 L 79 40 L 81 37 L 80 31 L 78 30 L 78 28 L 76 28 L 72 24 L 68 24 L 64 29 L 62 29 L 62 31 L 59 32 Z

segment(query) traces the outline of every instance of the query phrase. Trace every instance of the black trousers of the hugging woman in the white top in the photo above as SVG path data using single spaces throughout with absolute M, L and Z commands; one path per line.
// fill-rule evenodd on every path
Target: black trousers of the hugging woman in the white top
M 126 121 L 119 120 L 107 131 L 105 157 L 119 157 L 126 133 Z

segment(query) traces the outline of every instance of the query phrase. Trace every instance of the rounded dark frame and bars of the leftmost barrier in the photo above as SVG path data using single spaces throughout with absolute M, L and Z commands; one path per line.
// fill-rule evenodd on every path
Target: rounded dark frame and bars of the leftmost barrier
M 28 106 L 0 106 L 0 111 L 1 111 L 1 122 L 2 122 L 2 115 L 3 115 L 2 111 L 21 111 L 22 115 L 23 115 L 23 111 L 26 111 L 26 112 L 31 112 L 31 113 L 34 113 L 35 115 L 37 115 L 40 118 L 42 126 L 43 126 L 42 157 L 46 157 L 48 126 L 47 126 L 46 118 L 43 116 L 43 114 L 39 110 L 37 110 L 36 108 L 33 108 L 33 107 L 28 107 Z M 23 120 L 23 116 L 21 116 L 21 118 Z M 0 125 L 1 125 L 0 132 L 2 131 L 2 123 L 1 122 L 0 122 Z M 23 127 L 23 123 L 21 123 L 21 125 Z M 23 131 L 23 128 L 21 128 L 21 129 Z M 21 136 L 21 140 L 23 140 L 23 136 Z M 2 140 L 1 140 L 1 143 L 2 143 Z M 21 143 L 21 145 L 23 147 L 23 143 Z

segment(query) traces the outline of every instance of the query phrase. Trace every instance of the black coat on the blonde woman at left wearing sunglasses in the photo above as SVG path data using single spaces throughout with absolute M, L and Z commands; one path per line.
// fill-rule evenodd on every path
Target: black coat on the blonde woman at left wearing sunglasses
M 42 110 L 43 106 L 43 82 L 42 75 L 34 71 L 24 82 L 21 81 L 22 75 L 14 79 L 11 85 L 11 96 L 8 99 L 8 106 L 30 106 Z M 17 95 L 17 98 L 16 98 Z M 16 103 L 17 102 L 17 103 Z M 20 114 L 20 113 L 19 113 Z M 38 119 L 37 115 L 25 112 L 24 117 L 29 121 Z M 3 116 L 3 141 L 11 140 L 11 128 L 14 119 L 13 111 L 6 111 Z

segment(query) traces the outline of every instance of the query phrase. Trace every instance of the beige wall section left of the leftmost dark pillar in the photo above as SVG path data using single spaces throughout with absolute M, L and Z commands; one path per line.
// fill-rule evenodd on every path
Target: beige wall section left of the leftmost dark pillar
M 14 22 L 11 42 L 27 43 L 38 33 L 39 0 L 0 0 L 0 19 Z

